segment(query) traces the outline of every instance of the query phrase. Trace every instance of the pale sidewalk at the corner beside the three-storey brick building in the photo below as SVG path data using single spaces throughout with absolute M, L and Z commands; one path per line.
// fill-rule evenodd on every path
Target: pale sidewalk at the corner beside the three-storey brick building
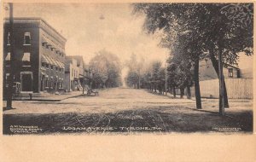
M 29 95 L 27 96 L 21 96 L 16 97 L 14 101 L 61 101 L 65 100 L 67 98 L 76 97 L 79 95 L 83 95 L 83 91 L 73 91 L 73 92 L 67 92 L 61 95 L 32 95 L 32 100 L 30 100 Z M 86 92 L 84 91 L 84 95 L 86 95 Z

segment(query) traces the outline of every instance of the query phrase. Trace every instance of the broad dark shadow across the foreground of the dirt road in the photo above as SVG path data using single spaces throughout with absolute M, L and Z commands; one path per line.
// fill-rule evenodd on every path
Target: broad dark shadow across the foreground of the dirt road
M 185 108 L 188 110 L 188 108 Z M 4 114 L 3 134 L 59 133 L 154 133 L 180 132 L 252 132 L 253 113 L 233 113 L 222 117 L 218 113 L 183 107 L 158 107 L 125 110 L 115 113 L 55 113 Z M 14 128 L 16 126 L 16 128 Z M 23 131 L 33 126 L 37 131 Z M 21 131 L 22 130 L 22 131 Z

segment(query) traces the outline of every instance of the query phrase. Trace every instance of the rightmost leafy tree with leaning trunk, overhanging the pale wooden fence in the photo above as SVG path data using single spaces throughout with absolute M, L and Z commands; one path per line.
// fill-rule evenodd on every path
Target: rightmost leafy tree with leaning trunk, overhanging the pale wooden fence
M 220 93 L 219 106 L 229 107 L 224 77 L 220 74 L 222 67 L 220 71 L 218 64 L 236 65 L 239 52 L 253 54 L 253 3 L 207 5 L 207 12 L 211 16 L 206 23 L 209 26 L 206 32 L 206 48 L 220 83 L 223 83 L 221 86 L 224 87 L 224 94 Z M 221 100 L 222 95 L 224 104 Z

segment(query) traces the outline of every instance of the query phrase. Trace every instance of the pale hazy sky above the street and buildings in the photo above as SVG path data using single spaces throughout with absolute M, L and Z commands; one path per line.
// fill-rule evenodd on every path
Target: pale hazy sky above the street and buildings
M 88 63 L 97 51 L 165 61 L 160 38 L 143 31 L 144 17 L 132 14 L 129 3 L 15 3 L 15 17 L 41 17 L 67 38 L 66 54 L 83 55 Z M 102 18 L 102 19 L 101 19 Z

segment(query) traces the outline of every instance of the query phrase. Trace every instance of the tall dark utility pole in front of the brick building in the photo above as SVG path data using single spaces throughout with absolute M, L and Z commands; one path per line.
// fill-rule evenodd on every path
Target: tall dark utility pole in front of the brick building
M 14 84 L 14 71 L 15 71 L 15 40 L 14 40 L 14 15 L 13 3 L 9 3 L 9 42 L 10 42 L 10 72 L 7 83 L 9 85 L 7 91 L 7 104 L 6 109 L 12 108 L 13 84 Z

